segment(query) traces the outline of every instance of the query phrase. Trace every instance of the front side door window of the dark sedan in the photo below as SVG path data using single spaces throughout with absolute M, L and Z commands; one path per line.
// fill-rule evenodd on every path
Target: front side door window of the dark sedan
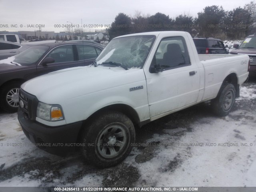
M 55 62 L 70 62 L 74 61 L 74 53 L 72 45 L 59 46 L 48 53 L 47 57 L 52 57 Z

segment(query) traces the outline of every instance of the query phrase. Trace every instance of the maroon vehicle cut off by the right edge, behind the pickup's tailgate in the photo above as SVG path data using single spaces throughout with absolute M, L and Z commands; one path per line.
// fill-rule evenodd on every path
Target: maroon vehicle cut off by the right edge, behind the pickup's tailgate
M 233 45 L 230 54 L 244 54 L 250 57 L 250 74 L 256 75 L 256 34 L 247 36 L 242 44 Z

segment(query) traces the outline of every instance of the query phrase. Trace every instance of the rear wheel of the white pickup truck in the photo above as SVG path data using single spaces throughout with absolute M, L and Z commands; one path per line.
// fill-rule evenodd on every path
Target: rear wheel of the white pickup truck
M 226 84 L 221 87 L 220 94 L 212 102 L 214 113 L 218 116 L 229 114 L 236 98 L 236 89 L 233 84 Z

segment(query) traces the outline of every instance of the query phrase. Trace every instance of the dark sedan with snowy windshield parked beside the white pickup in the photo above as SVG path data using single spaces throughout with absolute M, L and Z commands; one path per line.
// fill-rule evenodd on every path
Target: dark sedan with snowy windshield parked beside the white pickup
M 31 46 L 16 56 L 0 60 L 0 107 L 16 112 L 23 82 L 52 71 L 90 65 L 102 49 L 90 42 L 48 43 Z

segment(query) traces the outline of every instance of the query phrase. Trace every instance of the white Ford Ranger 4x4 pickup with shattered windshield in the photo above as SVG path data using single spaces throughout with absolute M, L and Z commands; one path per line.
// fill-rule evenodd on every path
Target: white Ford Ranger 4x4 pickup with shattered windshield
M 206 101 L 226 116 L 249 66 L 247 55 L 198 57 L 187 32 L 120 36 L 90 66 L 22 84 L 18 120 L 48 152 L 79 146 L 88 162 L 114 166 L 132 150 L 134 127 Z

